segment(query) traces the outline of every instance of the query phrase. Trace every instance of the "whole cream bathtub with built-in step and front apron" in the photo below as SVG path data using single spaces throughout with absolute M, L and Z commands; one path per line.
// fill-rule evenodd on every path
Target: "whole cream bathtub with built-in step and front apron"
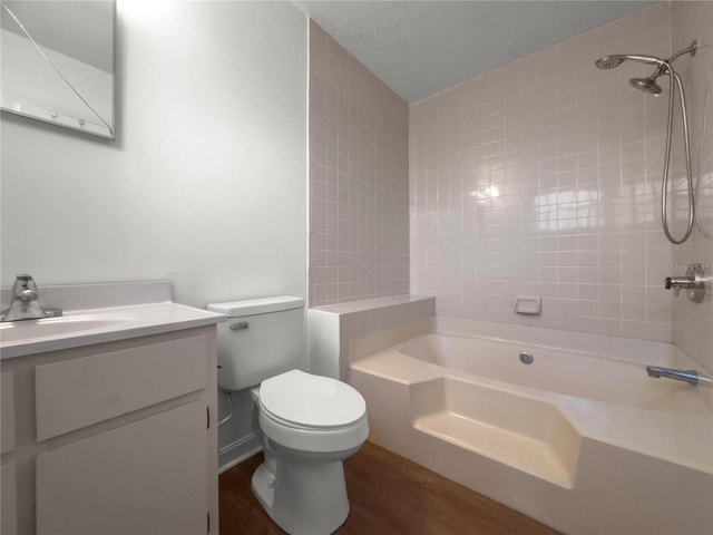
M 713 389 L 645 371 L 704 372 L 675 347 L 438 319 L 351 349 L 372 441 L 565 533 L 713 533 Z

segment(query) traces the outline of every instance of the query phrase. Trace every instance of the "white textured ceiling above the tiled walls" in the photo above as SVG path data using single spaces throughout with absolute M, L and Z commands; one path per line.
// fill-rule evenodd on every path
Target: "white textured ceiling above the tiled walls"
M 292 3 L 412 103 L 655 2 Z

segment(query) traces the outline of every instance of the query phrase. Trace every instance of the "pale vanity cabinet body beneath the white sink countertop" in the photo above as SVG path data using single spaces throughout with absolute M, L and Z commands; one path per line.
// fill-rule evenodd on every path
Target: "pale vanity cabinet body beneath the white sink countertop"
M 3 535 L 217 533 L 214 324 L 1 368 Z

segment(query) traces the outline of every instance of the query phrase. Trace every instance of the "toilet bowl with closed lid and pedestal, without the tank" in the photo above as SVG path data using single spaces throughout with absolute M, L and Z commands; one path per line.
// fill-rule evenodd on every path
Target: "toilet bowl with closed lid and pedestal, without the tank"
M 265 461 L 253 494 L 292 535 L 333 533 L 349 515 L 342 460 L 369 434 L 363 398 L 349 385 L 291 370 L 252 390 Z

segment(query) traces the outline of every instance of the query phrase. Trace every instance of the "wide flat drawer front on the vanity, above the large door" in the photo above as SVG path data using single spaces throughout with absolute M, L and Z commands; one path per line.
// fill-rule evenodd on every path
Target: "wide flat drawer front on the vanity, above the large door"
M 38 366 L 37 439 L 202 390 L 207 385 L 206 359 L 201 334 Z

